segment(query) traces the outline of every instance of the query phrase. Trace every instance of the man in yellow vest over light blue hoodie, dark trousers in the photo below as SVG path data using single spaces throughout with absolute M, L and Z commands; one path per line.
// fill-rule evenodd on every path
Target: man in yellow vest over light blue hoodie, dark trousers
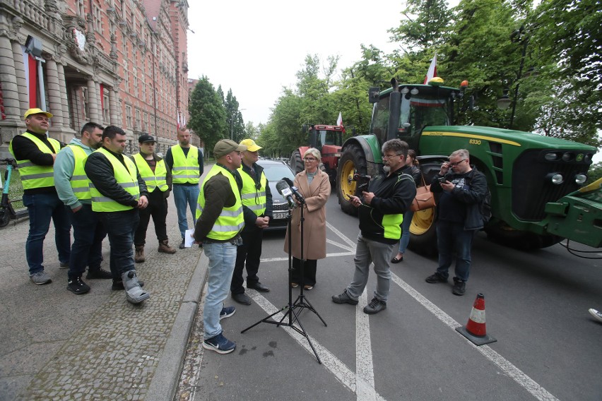
M 59 198 L 67 206 L 73 226 L 73 244 L 67 272 L 67 289 L 73 294 L 85 294 L 90 286 L 81 279 L 88 265 L 87 279 L 110 279 L 110 272 L 102 270 L 102 240 L 105 227 L 92 211 L 90 181 L 83 165 L 92 152 L 100 148 L 102 126 L 88 122 L 81 128 L 81 138 L 73 138 L 61 149 L 54 160 L 54 185 Z

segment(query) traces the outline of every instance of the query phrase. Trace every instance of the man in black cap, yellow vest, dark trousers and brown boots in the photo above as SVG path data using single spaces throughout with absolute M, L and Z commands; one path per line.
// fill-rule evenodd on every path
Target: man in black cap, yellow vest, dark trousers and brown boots
M 140 209 L 140 222 L 136 233 L 134 233 L 134 247 L 136 255 L 134 261 L 142 263 L 144 261 L 144 244 L 146 243 L 146 229 L 148 221 L 153 216 L 155 225 L 155 234 L 159 240 L 159 252 L 175 253 L 169 244 L 167 238 L 167 198 L 172 190 L 172 172 L 165 165 L 165 160 L 155 153 L 155 137 L 148 133 L 143 133 L 138 137 L 140 152 L 131 156 L 131 160 L 136 163 L 138 172 L 142 176 L 148 191 L 148 208 Z

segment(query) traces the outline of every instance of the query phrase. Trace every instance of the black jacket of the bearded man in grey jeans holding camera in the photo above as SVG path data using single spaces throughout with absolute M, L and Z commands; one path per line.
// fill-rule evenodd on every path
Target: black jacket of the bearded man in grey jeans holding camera
M 360 231 L 362 237 L 384 244 L 396 244 L 399 238 L 384 237 L 382 218 L 384 215 L 403 215 L 410 208 L 416 196 L 416 185 L 408 174 L 403 174 L 405 167 L 387 176 L 375 176 L 368 184 L 367 192 L 374 193 L 370 205 L 362 203 L 359 209 Z

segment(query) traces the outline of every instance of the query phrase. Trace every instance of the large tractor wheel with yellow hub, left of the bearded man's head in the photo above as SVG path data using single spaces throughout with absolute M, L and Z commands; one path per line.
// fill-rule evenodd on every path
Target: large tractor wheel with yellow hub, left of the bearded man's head
M 338 162 L 336 194 L 341 210 L 353 216 L 358 215 L 358 209 L 351 204 L 349 197 L 361 196 L 361 193 L 356 193 L 358 181 L 353 180 L 355 172 L 362 176 L 367 174 L 366 155 L 360 146 L 349 145 L 343 151 L 341 160 Z

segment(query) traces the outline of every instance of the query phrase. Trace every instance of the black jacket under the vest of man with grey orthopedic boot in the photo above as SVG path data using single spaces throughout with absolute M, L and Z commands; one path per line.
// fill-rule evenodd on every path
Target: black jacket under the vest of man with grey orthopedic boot
M 107 152 L 111 152 L 107 148 L 105 148 Z M 126 157 L 119 153 L 111 152 L 118 160 L 121 160 L 124 163 L 123 158 Z M 126 164 L 124 163 L 124 166 Z M 122 205 L 131 206 L 133 208 L 138 207 L 138 200 L 131 196 L 129 192 L 127 192 L 124 188 L 117 184 L 117 180 L 115 179 L 115 172 L 113 170 L 113 164 L 100 152 L 92 152 L 88 159 L 85 160 L 85 165 L 83 167 L 85 170 L 85 175 L 88 176 L 88 179 L 92 181 L 96 189 L 102 195 L 115 200 L 116 202 L 121 203 Z M 140 172 L 138 172 L 138 167 L 136 167 L 136 175 L 138 176 L 138 187 L 140 188 L 140 196 L 148 197 L 148 191 L 146 190 L 146 183 L 140 176 Z

